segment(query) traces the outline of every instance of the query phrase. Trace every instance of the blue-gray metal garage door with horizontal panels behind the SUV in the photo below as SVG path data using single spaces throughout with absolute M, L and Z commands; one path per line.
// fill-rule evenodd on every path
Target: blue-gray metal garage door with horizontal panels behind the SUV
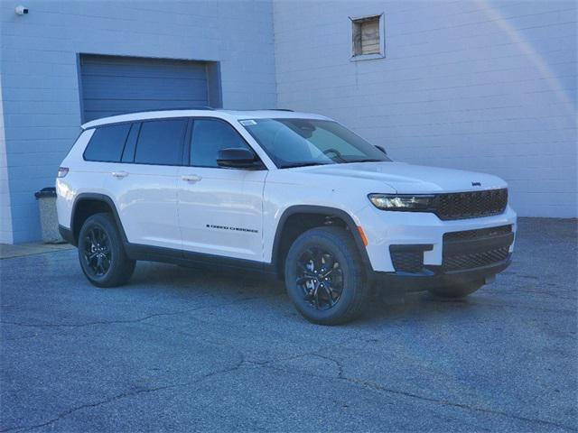
M 209 106 L 207 63 L 80 55 L 84 121 L 134 111 Z

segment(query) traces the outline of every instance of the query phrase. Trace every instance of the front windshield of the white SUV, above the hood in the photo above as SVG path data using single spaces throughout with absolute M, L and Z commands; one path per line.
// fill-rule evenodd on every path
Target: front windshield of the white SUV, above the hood
M 315 119 L 240 120 L 279 168 L 391 161 L 337 122 Z

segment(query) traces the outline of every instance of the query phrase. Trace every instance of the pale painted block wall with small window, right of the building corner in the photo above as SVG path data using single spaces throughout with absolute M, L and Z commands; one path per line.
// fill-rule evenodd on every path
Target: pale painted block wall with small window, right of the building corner
M 350 61 L 348 17 L 381 13 L 386 58 Z M 274 0 L 274 19 L 278 106 L 495 173 L 519 215 L 577 216 L 574 2 Z

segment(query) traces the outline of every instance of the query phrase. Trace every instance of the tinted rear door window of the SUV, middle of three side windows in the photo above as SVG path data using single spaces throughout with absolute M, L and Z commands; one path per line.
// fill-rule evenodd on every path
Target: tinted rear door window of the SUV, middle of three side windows
M 144 122 L 138 134 L 135 162 L 140 164 L 182 165 L 182 142 L 187 121 Z

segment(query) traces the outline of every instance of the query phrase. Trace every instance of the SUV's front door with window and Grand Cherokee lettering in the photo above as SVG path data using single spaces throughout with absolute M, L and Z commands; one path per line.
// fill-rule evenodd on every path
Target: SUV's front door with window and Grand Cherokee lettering
M 194 119 L 186 142 L 178 180 L 183 249 L 262 262 L 266 169 L 218 166 L 219 149 L 250 149 L 223 120 Z

